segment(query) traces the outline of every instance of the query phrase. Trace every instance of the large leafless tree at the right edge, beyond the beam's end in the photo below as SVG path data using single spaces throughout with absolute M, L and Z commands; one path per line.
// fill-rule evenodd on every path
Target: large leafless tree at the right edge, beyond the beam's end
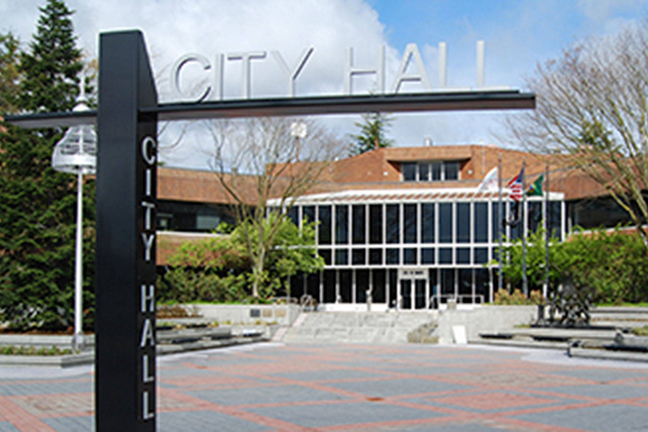
M 538 65 L 537 108 L 506 120 L 527 150 L 580 168 L 632 222 L 648 220 L 648 21 Z M 638 230 L 648 248 L 648 233 Z

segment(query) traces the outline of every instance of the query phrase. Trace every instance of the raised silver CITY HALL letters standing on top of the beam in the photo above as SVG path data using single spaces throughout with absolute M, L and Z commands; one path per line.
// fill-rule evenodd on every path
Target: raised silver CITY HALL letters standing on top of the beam
M 285 88 L 286 97 L 295 97 L 295 84 L 297 78 L 308 67 L 308 62 L 312 59 L 314 47 L 305 49 L 296 63 L 289 65 L 284 59 L 281 52 L 273 50 L 270 51 L 270 58 L 281 71 L 283 86 Z M 343 95 L 353 95 L 353 78 L 360 75 L 373 75 L 376 80 L 376 88 L 374 94 L 384 95 L 389 93 L 399 93 L 402 84 L 417 83 L 422 91 L 432 91 L 430 79 L 425 70 L 423 60 L 419 48 L 415 43 L 409 43 L 405 52 L 403 53 L 402 60 L 397 69 L 396 76 L 391 85 L 386 85 L 386 63 L 385 63 L 386 47 L 383 45 L 378 48 L 375 64 L 370 67 L 357 67 L 354 65 L 353 48 L 347 50 L 345 59 L 345 66 L 343 71 L 344 90 Z M 202 54 L 185 54 L 178 58 L 171 68 L 170 80 L 172 88 L 176 97 L 181 100 L 191 102 L 202 102 L 203 100 L 224 100 L 224 82 L 226 80 L 225 66 L 228 63 L 237 62 L 241 67 L 240 76 L 240 97 L 249 99 L 251 94 L 251 82 L 253 74 L 253 64 L 264 62 L 268 59 L 268 52 L 266 51 L 244 51 L 244 52 L 228 52 L 217 53 L 212 58 L 207 58 Z M 483 41 L 477 42 L 477 55 L 476 55 L 476 76 L 477 87 L 483 87 L 483 63 L 484 63 L 484 43 Z M 412 73 L 408 73 L 408 69 L 414 69 Z M 194 80 L 187 80 L 183 82 L 183 71 L 187 67 L 192 67 L 195 71 L 196 67 L 202 71 L 201 83 L 198 87 L 192 87 Z M 439 43 L 439 88 L 445 89 L 446 85 L 446 44 L 445 42 Z M 470 89 L 463 89 L 469 91 Z

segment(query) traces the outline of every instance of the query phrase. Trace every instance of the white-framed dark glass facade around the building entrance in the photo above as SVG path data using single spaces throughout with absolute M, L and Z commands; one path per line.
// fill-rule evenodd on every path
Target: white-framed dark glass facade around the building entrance
M 433 166 L 428 167 L 429 173 Z M 496 199 L 336 203 L 297 205 L 290 219 L 317 220 L 320 275 L 294 277 L 291 291 L 325 303 L 374 304 L 404 309 L 434 308 L 449 298 L 459 303 L 492 301 L 497 286 L 498 233 L 505 241 L 541 226 L 540 199 L 527 201 L 524 220 L 519 205 Z M 564 203 L 550 201 L 548 223 L 564 238 Z M 519 213 L 518 213 L 519 212 Z M 427 279 L 400 277 L 399 269 L 426 269 Z M 403 275 L 406 273 L 403 273 Z

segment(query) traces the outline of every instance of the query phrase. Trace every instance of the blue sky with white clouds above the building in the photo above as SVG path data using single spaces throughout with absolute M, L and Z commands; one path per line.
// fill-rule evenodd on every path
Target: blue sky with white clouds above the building
M 0 0 L 0 32 L 12 31 L 27 47 L 45 0 Z M 67 0 L 75 10 L 78 45 L 87 58 L 98 55 L 98 33 L 143 30 L 161 102 L 178 100 L 170 90 L 176 60 L 198 53 L 210 62 L 219 53 L 265 51 L 251 63 L 251 96 L 286 94 L 286 79 L 270 54 L 279 51 L 288 67 L 303 51 L 315 51 L 295 82 L 299 95 L 341 94 L 347 48 L 354 64 L 375 67 L 386 46 L 391 88 L 408 43 L 415 43 L 432 87 L 438 87 L 437 47 L 447 44 L 448 87 L 476 85 L 476 42 L 485 41 L 485 85 L 525 90 L 538 63 L 557 58 L 571 45 L 615 34 L 648 16 L 648 0 Z M 224 67 L 225 98 L 242 95 L 240 61 Z M 188 66 L 183 82 L 198 76 Z M 413 65 L 410 65 L 410 71 Z M 408 71 L 408 72 L 410 72 Z M 193 75 L 192 75 L 193 73 Z M 354 80 L 354 91 L 373 89 L 371 79 Z M 419 86 L 420 87 L 420 86 Z M 404 90 L 417 91 L 417 84 Z M 502 119 L 512 111 L 463 111 L 394 115 L 388 131 L 397 146 L 434 144 L 511 146 L 499 141 Z M 338 137 L 356 131 L 357 115 L 320 117 Z M 165 130 L 161 144 L 178 141 L 179 125 Z M 348 139 L 348 138 L 346 138 Z M 170 166 L 207 168 L 211 148 L 200 124 L 192 124 L 178 145 L 161 153 Z

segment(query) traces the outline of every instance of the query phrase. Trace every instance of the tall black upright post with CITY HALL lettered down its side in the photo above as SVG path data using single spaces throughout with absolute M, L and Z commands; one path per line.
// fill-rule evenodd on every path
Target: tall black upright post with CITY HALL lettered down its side
M 99 43 L 95 422 L 154 431 L 157 93 L 141 32 Z

